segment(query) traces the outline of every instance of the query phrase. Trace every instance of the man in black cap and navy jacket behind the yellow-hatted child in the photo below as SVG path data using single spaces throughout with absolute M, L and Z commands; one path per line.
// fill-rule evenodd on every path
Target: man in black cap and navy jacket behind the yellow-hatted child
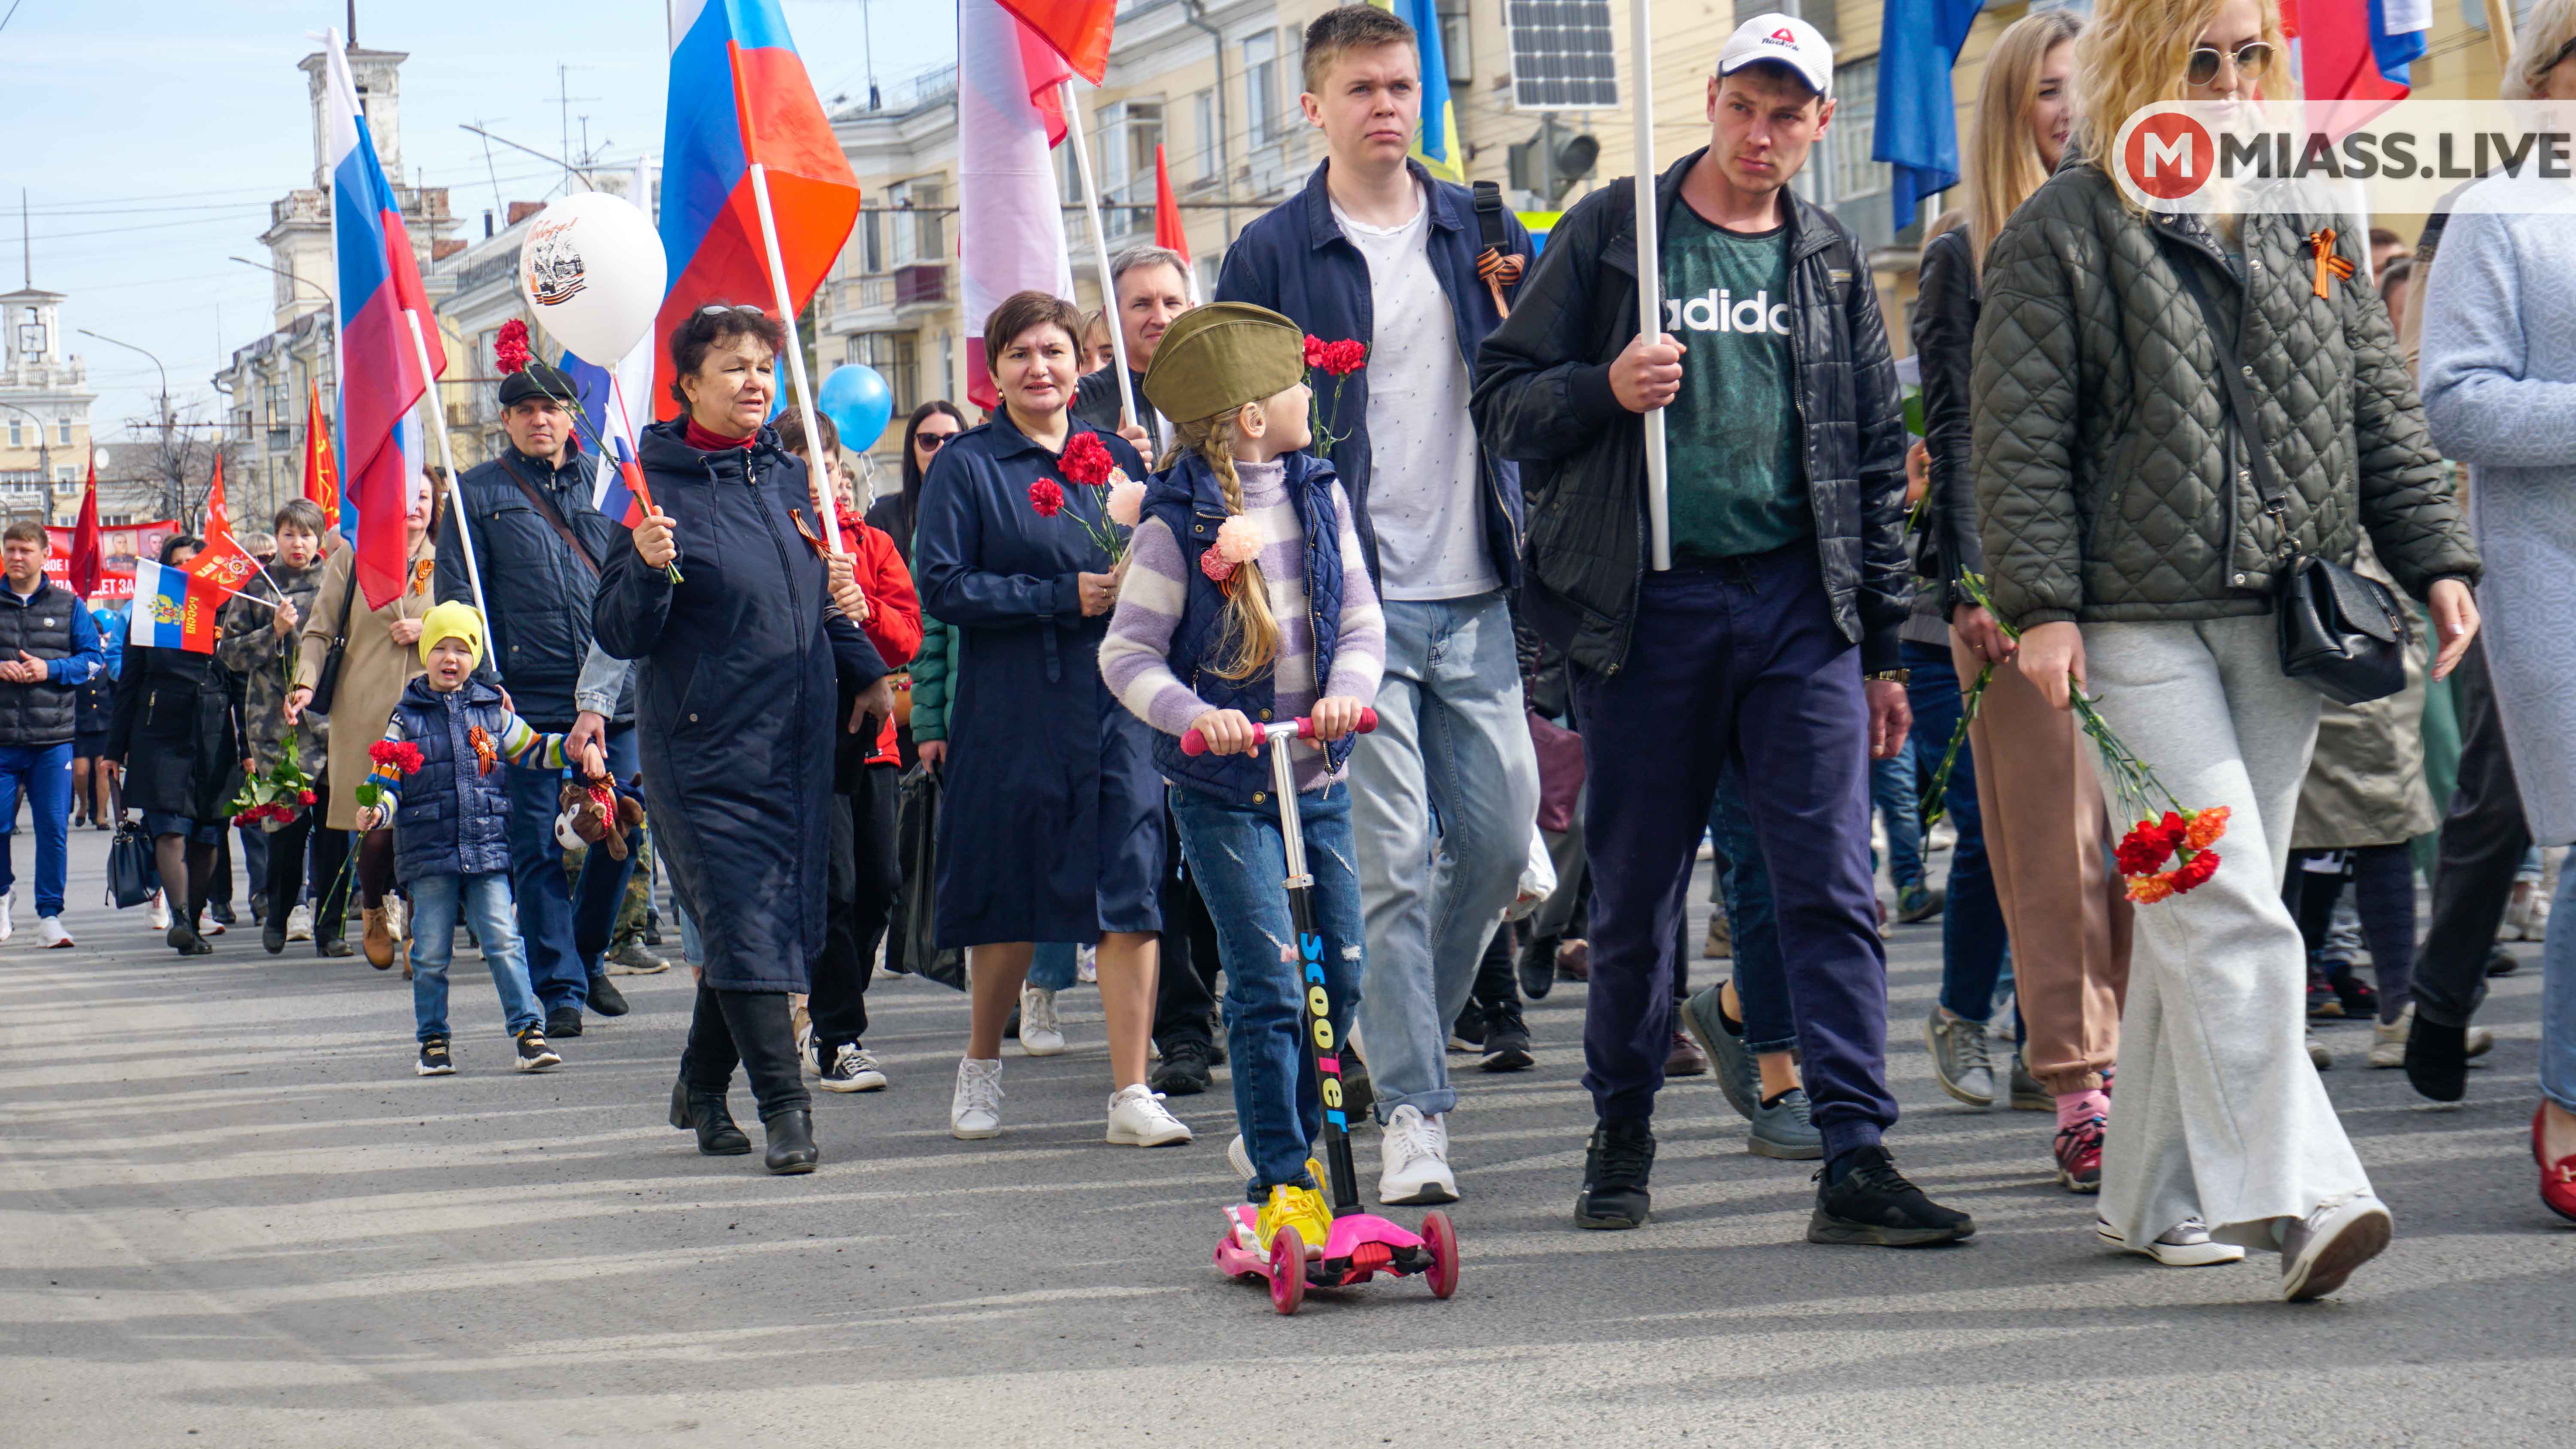
M 582 710 L 574 685 L 590 659 L 590 600 L 600 564 L 623 543 L 616 520 L 590 504 L 592 468 L 582 458 L 569 407 L 572 378 L 546 363 L 500 383 L 505 448 L 456 479 L 438 522 L 438 600 L 474 602 L 466 543 L 482 571 L 487 661 L 510 690 L 518 715 L 538 731 L 569 731 L 567 754 L 598 741 L 608 770 L 636 772 L 634 700 L 618 687 L 616 713 Z M 461 525 L 469 525 L 461 533 Z M 600 975 L 600 952 L 616 929 L 634 854 L 595 849 L 577 888 L 564 883 L 564 847 L 554 839 L 562 813 L 559 770 L 510 770 L 510 883 L 518 888 L 518 934 L 528 942 L 528 983 L 546 1004 L 549 1037 L 580 1037 L 582 1009 L 626 1014 L 616 986 Z

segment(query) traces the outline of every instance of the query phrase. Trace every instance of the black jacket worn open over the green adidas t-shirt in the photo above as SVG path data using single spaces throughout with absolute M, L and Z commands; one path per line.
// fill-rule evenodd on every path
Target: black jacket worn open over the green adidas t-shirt
M 1692 152 L 1656 180 L 1669 216 Z M 1865 669 L 1896 667 L 1914 597 L 1904 548 L 1906 420 L 1878 291 L 1852 232 L 1793 201 L 1790 350 L 1808 502 L 1834 628 Z M 1584 669 L 1628 659 L 1646 577 L 1646 430 L 1610 391 L 1636 337 L 1636 190 L 1620 178 L 1548 232 L 1512 317 L 1476 355 L 1476 427 L 1522 466 L 1530 499 L 1522 610 Z

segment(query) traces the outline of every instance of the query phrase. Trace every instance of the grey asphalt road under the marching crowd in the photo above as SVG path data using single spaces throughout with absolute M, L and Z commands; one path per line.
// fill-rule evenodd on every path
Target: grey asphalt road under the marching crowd
M 247 914 L 180 960 L 93 903 L 103 839 L 77 836 L 80 947 L 33 950 L 26 916 L 0 947 L 8 1446 L 2576 1441 L 2576 1230 L 2524 1148 L 2530 968 L 2496 983 L 2460 1109 L 2367 1071 L 2365 1027 L 2326 1029 L 2398 1220 L 2331 1302 L 2275 1302 L 2272 1259 L 2099 1251 L 2045 1114 L 1932 1086 L 1940 934 L 1906 927 L 1891 1145 L 1976 1212 L 1973 1243 L 1806 1246 L 1808 1166 L 1747 1156 L 1708 1078 L 1664 1099 L 1654 1225 L 1574 1230 L 1589 1109 L 1561 986 L 1535 1071 L 1453 1058 L 1458 1297 L 1381 1282 L 1275 1318 L 1208 1264 L 1231 1099 L 1175 1102 L 1195 1145 L 1103 1145 L 1087 991 L 1072 1053 L 1007 1048 L 1005 1135 L 956 1143 L 963 999 L 881 981 L 891 1091 L 822 1096 L 822 1171 L 770 1179 L 662 1120 L 683 973 L 626 978 L 631 1017 L 518 1076 L 461 952 L 459 1076 L 422 1081 L 397 973 L 268 957 Z

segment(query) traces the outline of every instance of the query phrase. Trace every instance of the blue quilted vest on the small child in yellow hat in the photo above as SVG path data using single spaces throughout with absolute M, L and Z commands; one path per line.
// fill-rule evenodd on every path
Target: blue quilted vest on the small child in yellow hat
M 422 674 L 402 690 L 394 718 L 402 721 L 404 739 L 420 746 L 420 770 L 402 780 L 402 806 L 394 811 L 394 880 L 507 872 L 510 767 L 492 764 L 482 775 L 466 736 L 482 726 L 500 749 L 510 721 L 500 690 L 466 679 L 461 690 L 438 692 Z

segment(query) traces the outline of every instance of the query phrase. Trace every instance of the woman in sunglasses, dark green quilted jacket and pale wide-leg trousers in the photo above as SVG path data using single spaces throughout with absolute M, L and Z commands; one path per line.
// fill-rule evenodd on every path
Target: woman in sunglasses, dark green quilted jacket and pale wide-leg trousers
M 2056 708 L 2084 690 L 2184 806 L 2228 811 L 2215 872 L 2136 914 L 2099 1235 L 2159 1264 L 2277 1248 L 2280 1295 L 2306 1300 L 2393 1223 L 2303 1042 L 2280 875 L 2321 695 L 2282 674 L 2275 592 L 2293 551 L 2349 566 L 2367 530 L 2447 674 L 2478 548 L 2388 311 L 2349 275 L 2352 219 L 2148 214 L 2094 160 L 2143 106 L 2259 98 L 2280 46 L 2269 0 L 2094 10 L 2084 160 L 1986 250 L 1973 468 L 2022 677 Z

